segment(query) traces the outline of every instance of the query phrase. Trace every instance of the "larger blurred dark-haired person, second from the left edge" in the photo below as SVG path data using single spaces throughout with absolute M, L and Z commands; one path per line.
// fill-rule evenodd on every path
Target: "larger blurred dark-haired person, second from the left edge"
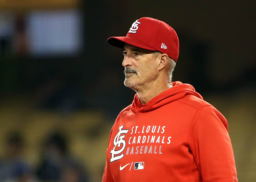
M 82 164 L 70 155 L 65 136 L 59 132 L 47 136 L 36 176 L 40 181 L 89 181 Z

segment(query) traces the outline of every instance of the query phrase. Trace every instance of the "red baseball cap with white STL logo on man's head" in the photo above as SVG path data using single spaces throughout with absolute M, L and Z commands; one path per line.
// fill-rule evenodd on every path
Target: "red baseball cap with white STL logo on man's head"
M 167 23 L 153 18 L 143 17 L 133 22 L 125 37 L 110 37 L 108 43 L 123 48 L 124 44 L 148 50 L 158 50 L 177 62 L 179 56 L 179 38 Z

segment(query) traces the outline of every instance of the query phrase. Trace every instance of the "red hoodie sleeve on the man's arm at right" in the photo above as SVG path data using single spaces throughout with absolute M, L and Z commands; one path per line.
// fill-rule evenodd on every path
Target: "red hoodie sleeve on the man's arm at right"
M 196 112 L 188 144 L 203 181 L 238 181 L 227 120 L 213 106 Z

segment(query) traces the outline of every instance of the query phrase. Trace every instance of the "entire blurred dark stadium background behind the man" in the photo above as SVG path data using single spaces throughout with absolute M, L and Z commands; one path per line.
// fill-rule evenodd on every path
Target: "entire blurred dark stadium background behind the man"
M 125 36 L 143 17 L 173 27 L 173 80 L 227 118 L 239 181 L 256 181 L 255 1 L 0 0 L 0 181 L 101 181 L 110 128 L 132 102 Z

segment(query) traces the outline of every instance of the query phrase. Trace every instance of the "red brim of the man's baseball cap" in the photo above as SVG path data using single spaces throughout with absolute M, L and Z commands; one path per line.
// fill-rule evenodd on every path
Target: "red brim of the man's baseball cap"
M 119 47 L 119 48 L 124 48 L 124 44 L 126 43 L 135 47 L 140 47 L 142 49 L 156 50 L 155 48 L 150 47 L 145 43 L 131 37 L 110 37 L 107 39 L 107 41 L 110 45 Z

